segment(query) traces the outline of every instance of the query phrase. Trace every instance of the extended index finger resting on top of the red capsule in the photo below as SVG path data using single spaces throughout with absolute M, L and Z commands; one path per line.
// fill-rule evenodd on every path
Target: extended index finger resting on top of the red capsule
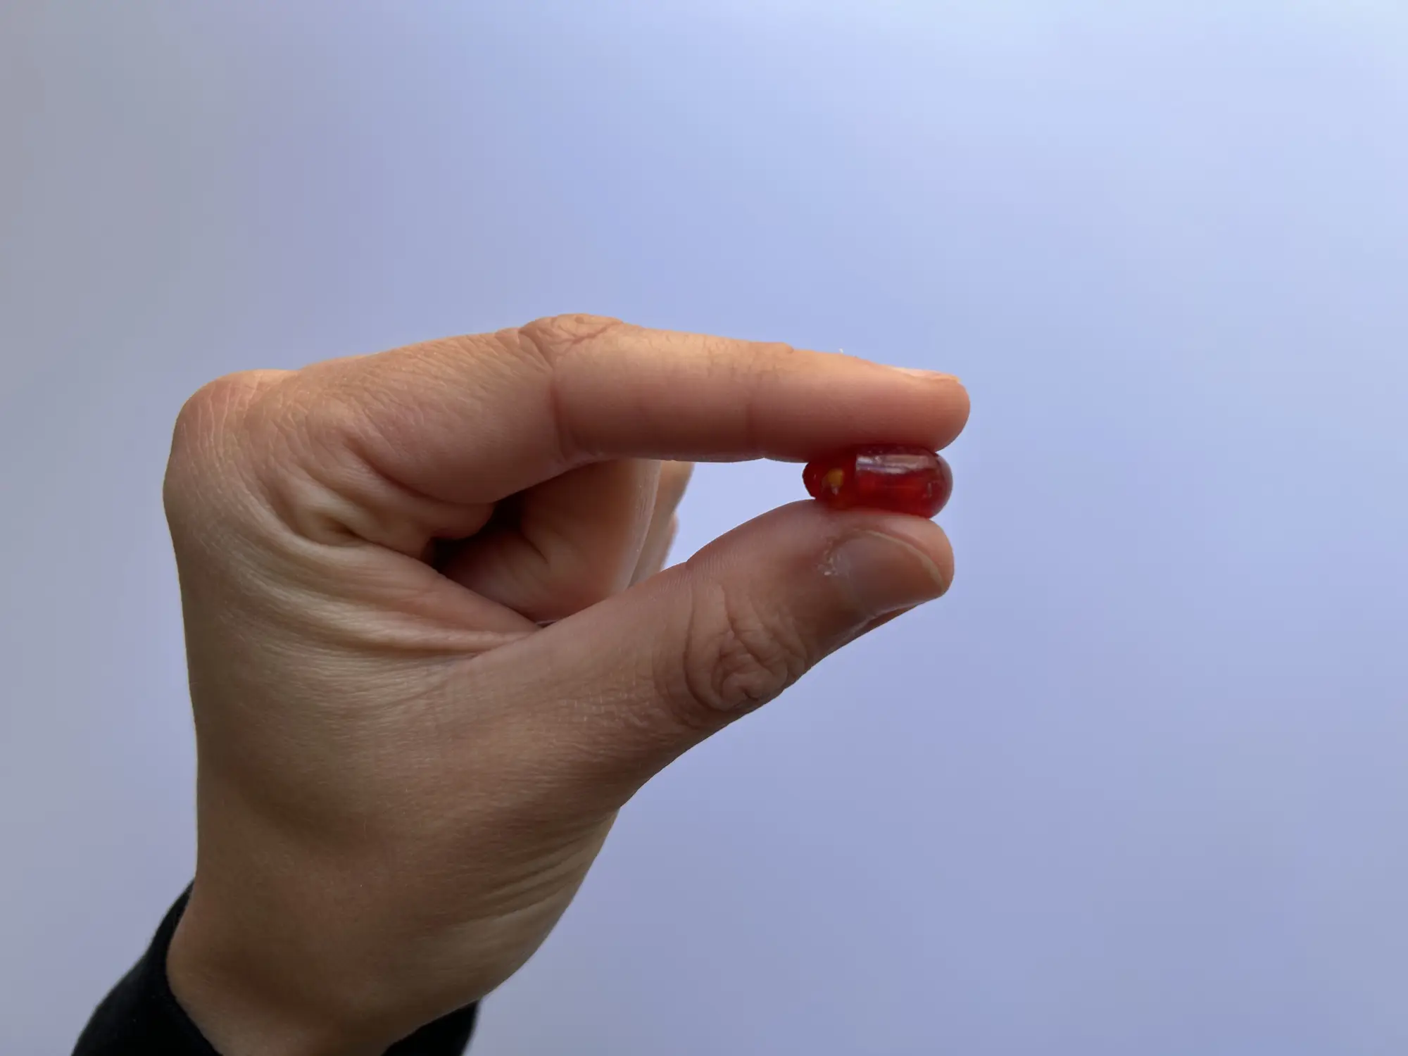
M 615 458 L 805 460 L 866 442 L 939 449 L 969 413 L 967 393 L 948 375 L 597 315 L 300 375 L 322 391 L 308 425 L 351 431 L 379 473 L 453 503 L 497 501 Z

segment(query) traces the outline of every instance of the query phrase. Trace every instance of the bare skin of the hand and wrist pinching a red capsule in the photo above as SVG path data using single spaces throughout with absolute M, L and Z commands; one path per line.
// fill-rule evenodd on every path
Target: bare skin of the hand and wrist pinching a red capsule
M 690 463 L 939 449 L 967 411 L 946 375 L 591 315 L 196 393 L 168 974 L 206 1036 L 382 1053 L 503 983 L 652 774 L 952 580 L 938 525 L 812 501 L 662 572 Z

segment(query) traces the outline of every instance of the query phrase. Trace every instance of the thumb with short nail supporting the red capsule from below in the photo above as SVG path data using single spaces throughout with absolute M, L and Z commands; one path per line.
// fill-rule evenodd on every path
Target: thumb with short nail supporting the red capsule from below
M 491 656 L 507 665 L 498 677 L 518 683 L 515 725 L 534 727 L 517 731 L 521 743 L 551 756 L 534 769 L 579 803 L 600 794 L 611 803 L 594 805 L 615 807 L 952 577 L 952 549 L 931 521 L 794 503 Z M 522 672 L 534 672 L 529 684 Z

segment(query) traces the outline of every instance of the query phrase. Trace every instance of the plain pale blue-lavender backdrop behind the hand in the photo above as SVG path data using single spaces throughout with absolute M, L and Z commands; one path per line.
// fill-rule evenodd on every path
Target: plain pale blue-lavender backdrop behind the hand
M 1398 0 L 10 0 L 0 155 L 4 1053 L 190 874 L 183 398 L 560 311 L 960 375 L 959 576 L 648 786 L 474 1056 L 1408 1050 Z

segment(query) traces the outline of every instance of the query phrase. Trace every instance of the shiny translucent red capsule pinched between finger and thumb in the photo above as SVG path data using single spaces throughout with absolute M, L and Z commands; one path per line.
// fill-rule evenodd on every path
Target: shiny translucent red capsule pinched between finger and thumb
M 876 444 L 812 459 L 801 472 L 807 494 L 832 510 L 870 507 L 934 517 L 949 501 L 953 473 L 926 448 Z

